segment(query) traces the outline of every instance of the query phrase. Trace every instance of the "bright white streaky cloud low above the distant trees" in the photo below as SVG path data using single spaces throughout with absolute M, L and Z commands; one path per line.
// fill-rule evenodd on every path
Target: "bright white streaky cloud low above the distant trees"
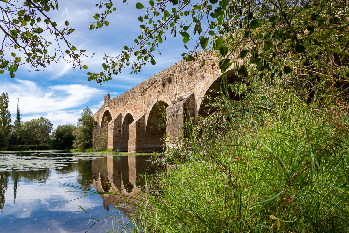
M 17 111 L 17 98 L 20 99 L 22 120 L 28 121 L 41 116 L 48 118 L 56 128 L 60 124 L 76 124 L 81 110 L 94 97 L 102 99 L 105 90 L 87 85 L 54 85 L 40 87 L 34 81 L 15 79 L 15 82 L 3 83 L 9 95 L 9 110 L 12 117 Z M 87 104 L 88 105 L 88 104 Z M 98 110 L 98 105 L 90 105 Z M 92 111 L 93 111 L 92 110 Z

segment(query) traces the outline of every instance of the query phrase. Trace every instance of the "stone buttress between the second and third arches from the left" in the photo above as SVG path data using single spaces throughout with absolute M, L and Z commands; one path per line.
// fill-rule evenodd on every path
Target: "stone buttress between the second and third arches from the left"
M 128 152 L 143 152 L 144 150 L 144 114 L 128 126 Z

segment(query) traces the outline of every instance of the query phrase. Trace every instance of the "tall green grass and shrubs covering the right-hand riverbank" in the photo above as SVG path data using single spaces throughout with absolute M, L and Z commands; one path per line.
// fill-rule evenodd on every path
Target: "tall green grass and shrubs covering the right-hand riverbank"
M 252 98 L 234 105 L 216 97 L 221 109 L 188 122 L 188 138 L 167 149 L 175 168 L 148 182 L 150 198 L 138 209 L 143 227 L 348 232 L 347 110 L 323 100 L 309 104 L 288 90 L 252 108 Z

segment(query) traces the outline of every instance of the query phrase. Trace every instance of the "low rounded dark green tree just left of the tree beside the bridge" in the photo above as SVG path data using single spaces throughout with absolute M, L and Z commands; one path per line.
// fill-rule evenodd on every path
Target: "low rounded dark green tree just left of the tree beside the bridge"
M 59 150 L 71 149 L 76 138 L 74 135 L 76 129 L 77 127 L 72 124 L 59 125 L 52 134 L 54 138 L 51 141 L 52 147 Z

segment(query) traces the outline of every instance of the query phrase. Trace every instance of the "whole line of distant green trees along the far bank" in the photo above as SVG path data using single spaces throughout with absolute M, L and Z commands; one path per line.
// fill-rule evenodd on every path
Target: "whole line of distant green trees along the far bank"
M 53 130 L 52 123 L 45 117 L 23 122 L 21 120 L 19 101 L 16 120 L 12 122 L 8 110 L 8 94 L 0 95 L 0 148 L 7 150 L 67 150 L 80 148 L 86 150 L 93 146 L 92 131 L 97 125 L 92 111 L 83 109 L 77 126 L 73 124 L 59 125 Z

